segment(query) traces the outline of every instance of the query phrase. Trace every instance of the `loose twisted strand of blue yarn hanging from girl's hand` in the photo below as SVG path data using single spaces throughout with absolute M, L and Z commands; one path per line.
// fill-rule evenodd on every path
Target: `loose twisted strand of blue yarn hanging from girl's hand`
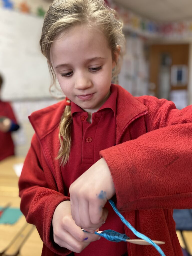
M 155 247 L 155 249 L 161 254 L 161 256 L 165 256 L 165 253 L 162 251 L 162 249 L 155 244 L 150 238 L 148 238 L 147 236 L 145 236 L 144 234 L 138 232 L 134 227 L 131 226 L 131 224 L 120 214 L 120 212 L 118 211 L 118 209 L 116 208 L 114 202 L 110 199 L 109 200 L 110 205 L 112 206 L 113 210 L 116 212 L 116 214 L 120 217 L 121 221 L 139 238 L 145 240 L 146 242 L 150 243 L 153 247 Z M 104 232 L 104 231 L 103 231 Z M 103 233 L 102 232 L 102 233 Z M 115 232 L 115 231 L 114 231 Z M 102 234 L 100 233 L 100 234 Z M 98 234 L 98 233 L 97 233 Z M 104 237 L 104 236 L 103 236 Z M 109 240 L 109 239 L 108 239 Z M 111 241 L 111 240 L 110 240 Z M 124 240 L 122 240 L 124 241 Z

